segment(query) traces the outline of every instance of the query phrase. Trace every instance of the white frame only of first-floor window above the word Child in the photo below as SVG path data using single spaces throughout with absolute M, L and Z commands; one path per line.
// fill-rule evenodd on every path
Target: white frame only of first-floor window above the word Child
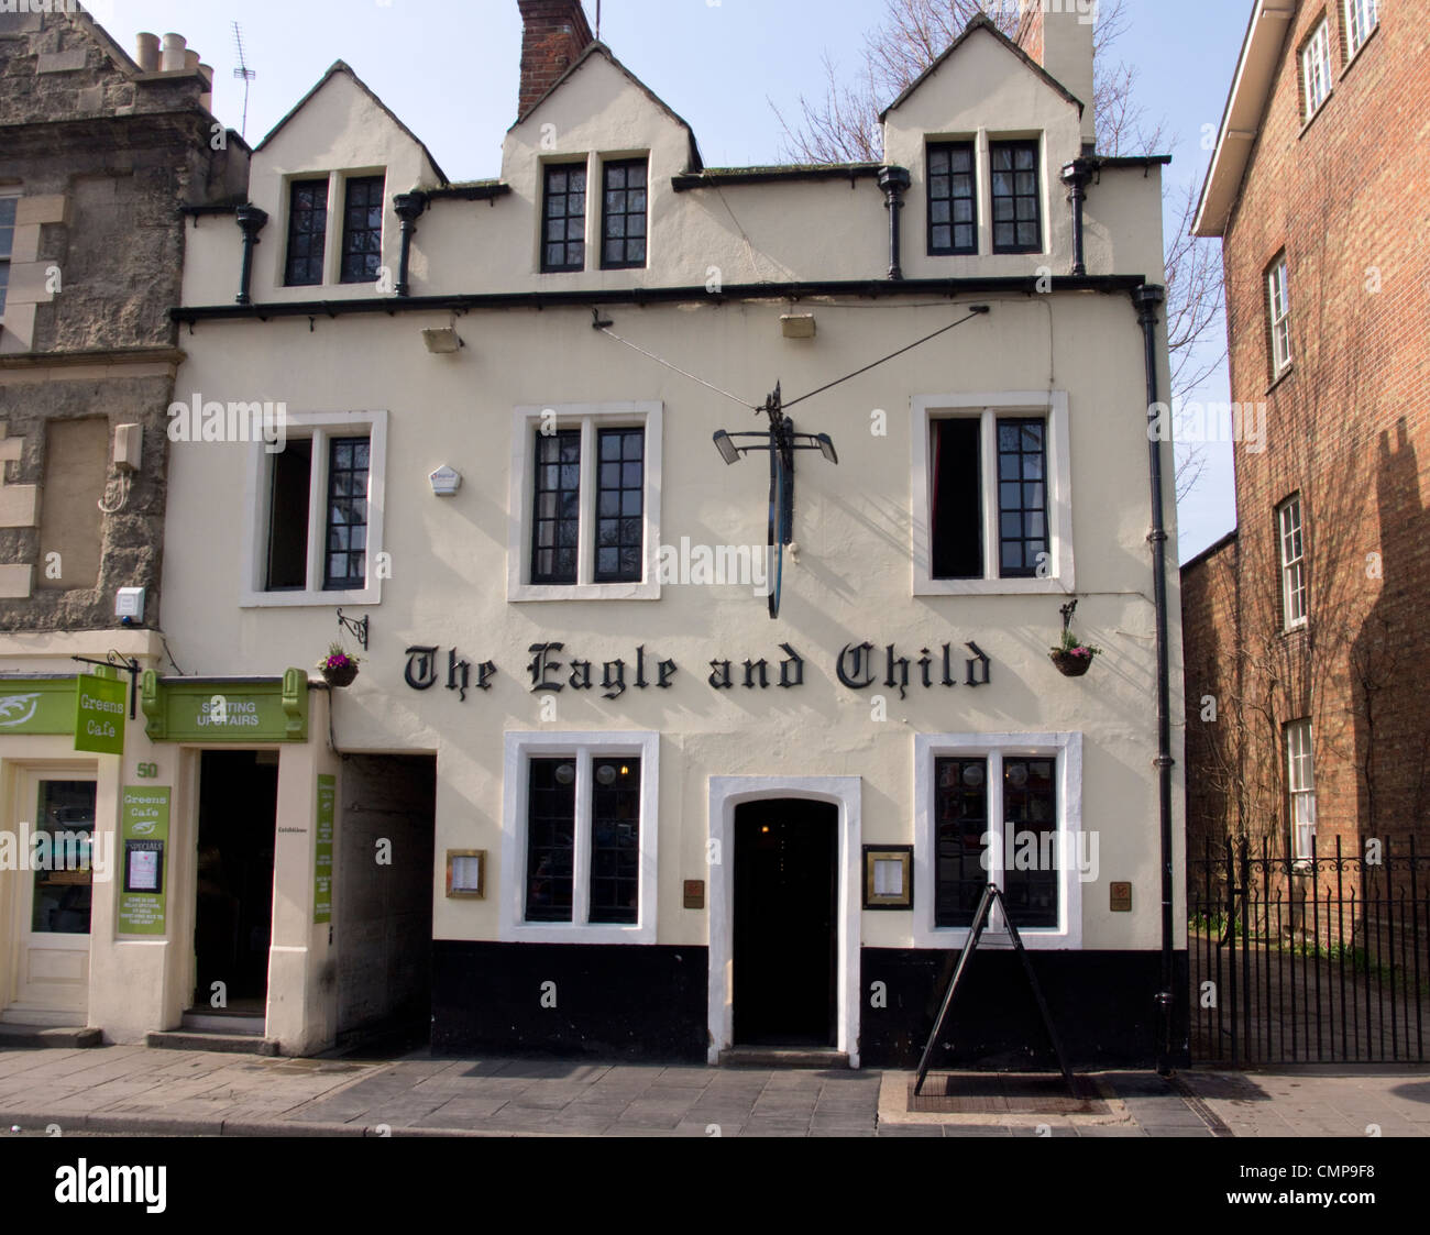
M 982 579 L 935 579 L 932 452 L 930 427 L 937 419 L 981 420 L 982 466 Z M 1045 579 L 998 576 L 998 420 L 1047 417 L 1048 553 Z M 995 596 L 1004 593 L 1071 593 L 1072 569 L 1072 467 L 1068 452 L 1068 396 L 1065 390 L 1004 390 L 974 395 L 917 395 L 912 399 L 912 565 L 915 596 Z

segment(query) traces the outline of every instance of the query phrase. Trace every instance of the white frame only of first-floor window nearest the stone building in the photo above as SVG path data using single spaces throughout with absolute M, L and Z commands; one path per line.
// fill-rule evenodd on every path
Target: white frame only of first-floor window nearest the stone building
M 249 447 L 245 510 L 249 535 L 243 540 L 242 592 L 245 609 L 295 607 L 300 605 L 378 605 L 382 579 L 376 569 L 382 553 L 383 477 L 388 467 L 388 413 L 375 412 L 289 412 L 283 420 L 289 439 L 312 439 L 313 470 L 307 490 L 307 586 L 302 592 L 267 592 L 269 519 L 272 516 L 273 459 L 265 442 Z M 368 436 L 368 586 L 325 589 L 323 566 L 327 545 L 327 442 L 332 437 Z

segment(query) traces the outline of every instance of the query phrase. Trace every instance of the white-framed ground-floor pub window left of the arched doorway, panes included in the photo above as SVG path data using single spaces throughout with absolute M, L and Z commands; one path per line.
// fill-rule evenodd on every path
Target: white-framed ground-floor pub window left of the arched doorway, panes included
M 658 735 L 508 733 L 503 938 L 655 939 Z

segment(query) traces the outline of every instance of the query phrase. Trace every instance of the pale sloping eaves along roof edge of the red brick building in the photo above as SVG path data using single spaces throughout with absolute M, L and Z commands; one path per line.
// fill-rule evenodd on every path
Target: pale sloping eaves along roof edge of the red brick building
M 1294 17 L 1296 0 L 1256 0 L 1251 6 L 1251 23 L 1221 113 L 1217 149 L 1191 224 L 1193 236 L 1221 236 L 1236 209 Z

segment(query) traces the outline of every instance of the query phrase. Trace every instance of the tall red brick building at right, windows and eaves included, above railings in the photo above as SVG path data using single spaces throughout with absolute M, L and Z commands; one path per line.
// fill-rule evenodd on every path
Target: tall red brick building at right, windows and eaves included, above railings
M 1426 853 L 1430 13 L 1251 7 L 1194 226 L 1244 432 L 1237 532 L 1183 567 L 1188 852 Z

